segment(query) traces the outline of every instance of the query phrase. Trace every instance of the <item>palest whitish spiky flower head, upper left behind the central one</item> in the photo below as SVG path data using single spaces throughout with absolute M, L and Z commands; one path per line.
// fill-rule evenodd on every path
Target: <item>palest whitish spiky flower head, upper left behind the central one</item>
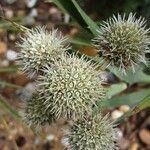
M 21 40 L 18 44 L 20 47 L 18 64 L 31 77 L 42 66 L 68 49 L 66 37 L 54 29 L 48 32 L 45 27 L 36 27 L 27 31 Z

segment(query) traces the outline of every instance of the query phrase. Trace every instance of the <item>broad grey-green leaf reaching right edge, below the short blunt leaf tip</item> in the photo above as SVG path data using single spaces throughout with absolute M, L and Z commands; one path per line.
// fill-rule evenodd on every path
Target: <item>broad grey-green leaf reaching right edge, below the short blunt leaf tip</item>
M 144 89 L 133 93 L 129 93 L 127 95 L 117 96 L 111 99 L 103 100 L 101 102 L 98 102 L 97 105 L 104 109 L 114 108 L 121 105 L 129 105 L 130 107 L 133 107 L 149 94 L 150 94 L 150 89 Z

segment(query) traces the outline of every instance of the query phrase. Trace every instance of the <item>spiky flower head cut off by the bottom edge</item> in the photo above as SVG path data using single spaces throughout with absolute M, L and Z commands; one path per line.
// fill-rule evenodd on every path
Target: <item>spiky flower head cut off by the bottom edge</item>
M 108 115 L 79 119 L 64 131 L 70 150 L 116 150 L 117 129 Z

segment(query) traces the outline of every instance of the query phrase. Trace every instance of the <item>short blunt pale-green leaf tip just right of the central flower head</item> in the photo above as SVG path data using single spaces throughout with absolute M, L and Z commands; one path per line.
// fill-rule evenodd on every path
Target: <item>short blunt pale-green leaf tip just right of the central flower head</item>
M 110 99 L 112 96 L 119 94 L 126 88 L 127 88 L 126 83 L 112 84 L 107 90 L 106 97 Z

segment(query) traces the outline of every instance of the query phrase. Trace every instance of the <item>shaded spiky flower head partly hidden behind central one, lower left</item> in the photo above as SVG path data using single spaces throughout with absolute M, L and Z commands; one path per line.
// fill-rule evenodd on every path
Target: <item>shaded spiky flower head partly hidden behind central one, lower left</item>
M 53 121 L 53 115 L 43 105 L 43 98 L 34 94 L 30 100 L 25 101 L 21 115 L 26 124 L 31 127 L 41 127 Z

